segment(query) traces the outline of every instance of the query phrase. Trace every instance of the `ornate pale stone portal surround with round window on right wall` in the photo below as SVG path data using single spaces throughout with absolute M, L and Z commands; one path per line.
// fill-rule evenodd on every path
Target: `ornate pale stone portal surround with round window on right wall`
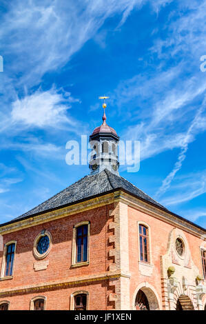
M 177 238 L 183 241 L 182 255 L 179 255 L 176 251 Z M 171 275 L 168 269 L 172 268 L 174 268 L 175 273 Z M 203 284 L 198 285 L 196 282 L 199 270 L 192 260 L 186 236 L 178 228 L 174 228 L 169 233 L 167 253 L 161 256 L 161 274 L 165 310 L 175 310 L 178 298 L 182 298 L 183 301 L 187 300 L 187 302 L 190 299 L 194 310 L 203 309 L 201 298 L 205 294 L 206 287 Z M 165 285 L 166 282 L 167 285 Z

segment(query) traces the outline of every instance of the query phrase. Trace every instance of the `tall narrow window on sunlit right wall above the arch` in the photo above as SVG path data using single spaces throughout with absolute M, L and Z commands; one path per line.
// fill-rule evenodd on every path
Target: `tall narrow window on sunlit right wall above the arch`
M 149 262 L 149 236 L 148 228 L 145 225 L 138 225 L 140 261 Z

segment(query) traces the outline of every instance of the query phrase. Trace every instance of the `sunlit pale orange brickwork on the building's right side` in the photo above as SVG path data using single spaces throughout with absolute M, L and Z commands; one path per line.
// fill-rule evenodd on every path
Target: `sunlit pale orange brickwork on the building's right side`
M 150 225 L 151 249 L 152 249 L 152 263 L 154 264 L 152 276 L 143 276 L 138 270 L 138 227 L 137 222 L 143 221 Z M 139 283 L 147 281 L 150 283 L 158 293 L 161 299 L 161 255 L 167 252 L 167 243 L 169 239 L 169 232 L 174 226 L 160 221 L 153 216 L 139 212 L 132 207 L 128 208 L 128 222 L 129 222 L 129 253 L 130 253 L 130 272 L 132 277 L 130 279 L 130 301 Z M 200 259 L 199 247 L 203 241 L 196 236 L 183 231 L 189 243 L 189 250 L 192 254 L 192 259 L 198 267 L 200 274 L 202 274 L 202 265 Z

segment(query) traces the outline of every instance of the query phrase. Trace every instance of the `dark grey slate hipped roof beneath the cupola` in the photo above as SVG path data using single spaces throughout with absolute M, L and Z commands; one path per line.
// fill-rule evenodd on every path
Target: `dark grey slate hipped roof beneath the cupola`
M 98 196 L 99 194 L 111 192 L 112 190 L 119 188 L 134 194 L 138 198 L 144 199 L 150 203 L 154 203 L 154 205 L 162 207 L 166 210 L 165 207 L 154 201 L 154 199 L 152 199 L 150 196 L 147 196 L 147 194 L 136 188 L 135 185 L 132 185 L 132 183 L 124 179 L 122 176 L 112 174 L 112 172 L 105 169 L 101 173 L 91 176 L 84 176 L 82 179 L 73 183 L 65 190 L 59 192 L 59 194 L 52 196 L 52 198 L 48 199 L 44 203 L 41 203 L 37 207 L 34 207 L 29 212 L 26 212 L 14 220 L 23 219 L 26 216 L 39 214 L 41 212 L 45 212 L 46 210 L 52 210 L 56 207 L 61 207 L 76 201 L 88 199 L 92 196 Z

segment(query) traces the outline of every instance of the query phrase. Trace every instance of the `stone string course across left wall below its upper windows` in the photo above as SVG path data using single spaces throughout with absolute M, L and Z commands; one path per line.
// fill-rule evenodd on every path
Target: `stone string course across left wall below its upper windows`
M 107 279 L 119 279 L 120 277 L 126 277 L 130 279 L 130 274 L 124 274 L 121 270 L 116 272 L 103 272 L 99 274 L 93 274 L 89 276 L 73 277 L 62 281 L 52 281 L 48 283 L 39 283 L 37 285 L 25 285 L 21 287 L 8 288 L 0 290 L 0 296 L 12 296 L 14 294 L 29 294 L 30 292 L 41 292 L 42 290 L 56 290 L 59 287 L 69 287 L 71 285 L 79 285 L 81 283 L 89 283 L 91 281 L 102 281 Z

